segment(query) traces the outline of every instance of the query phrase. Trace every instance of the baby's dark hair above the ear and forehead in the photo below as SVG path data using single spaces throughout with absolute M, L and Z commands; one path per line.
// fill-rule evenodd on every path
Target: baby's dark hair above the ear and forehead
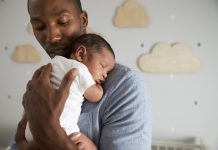
M 94 33 L 87 33 L 79 36 L 72 42 L 71 53 L 75 54 L 77 48 L 83 45 L 86 47 L 87 52 L 100 52 L 102 48 L 109 50 L 115 58 L 115 54 L 110 44 L 100 35 Z

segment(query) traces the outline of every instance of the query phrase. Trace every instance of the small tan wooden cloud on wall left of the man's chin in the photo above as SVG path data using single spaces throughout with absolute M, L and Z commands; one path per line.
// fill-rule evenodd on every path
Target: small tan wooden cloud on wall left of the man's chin
M 41 55 L 32 45 L 18 45 L 12 54 L 12 60 L 17 63 L 37 63 Z

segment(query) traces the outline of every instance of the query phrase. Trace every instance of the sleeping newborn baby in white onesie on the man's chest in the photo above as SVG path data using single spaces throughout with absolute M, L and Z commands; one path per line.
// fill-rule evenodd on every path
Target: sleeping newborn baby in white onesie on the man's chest
M 102 98 L 102 83 L 114 68 L 115 54 L 110 44 L 101 36 L 83 34 L 72 42 L 70 59 L 55 56 L 51 64 L 51 84 L 55 89 L 59 88 L 64 75 L 70 69 L 77 68 L 79 72 L 71 85 L 69 97 L 60 116 L 60 125 L 67 135 L 73 136 L 80 132 L 77 122 L 84 99 L 98 102 Z M 73 142 L 76 145 L 89 143 L 89 150 L 97 149 L 88 138 L 79 138 Z M 32 147 L 37 147 L 34 142 L 31 143 Z

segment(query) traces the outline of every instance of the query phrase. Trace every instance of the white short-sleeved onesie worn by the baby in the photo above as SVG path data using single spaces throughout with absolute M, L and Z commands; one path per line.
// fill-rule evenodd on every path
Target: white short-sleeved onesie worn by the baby
M 77 125 L 81 106 L 84 101 L 84 92 L 87 88 L 95 84 L 88 68 L 73 59 L 67 59 L 62 56 L 55 56 L 51 60 L 51 84 L 53 88 L 58 89 L 64 75 L 72 68 L 78 68 L 79 74 L 70 87 L 70 94 L 64 106 L 60 117 L 60 124 L 65 129 L 67 135 L 73 132 L 79 132 Z

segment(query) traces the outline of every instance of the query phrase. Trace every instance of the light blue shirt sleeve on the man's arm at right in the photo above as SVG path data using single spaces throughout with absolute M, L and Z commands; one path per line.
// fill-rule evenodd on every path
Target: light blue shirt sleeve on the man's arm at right
M 118 74 L 115 76 L 119 78 Z M 103 107 L 99 149 L 150 150 L 151 105 L 144 81 L 134 71 L 120 76 L 123 77 L 109 83 L 116 85 Z

